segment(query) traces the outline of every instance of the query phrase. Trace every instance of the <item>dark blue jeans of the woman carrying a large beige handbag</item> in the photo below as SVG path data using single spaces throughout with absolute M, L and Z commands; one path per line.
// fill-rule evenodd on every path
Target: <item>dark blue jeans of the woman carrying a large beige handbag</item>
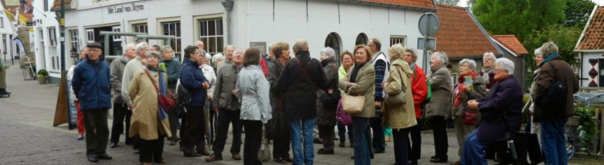
M 370 165 L 369 150 L 367 146 L 367 126 L 369 118 L 352 116 L 352 135 L 355 140 L 355 165 Z M 379 132 L 382 133 L 382 132 Z

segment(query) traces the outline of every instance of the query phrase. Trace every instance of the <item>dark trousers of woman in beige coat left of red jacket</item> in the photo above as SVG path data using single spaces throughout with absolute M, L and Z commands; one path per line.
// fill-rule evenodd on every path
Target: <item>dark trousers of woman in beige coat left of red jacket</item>
M 409 147 L 409 128 L 392 129 L 394 141 L 394 162 L 397 165 L 406 165 L 408 160 Z

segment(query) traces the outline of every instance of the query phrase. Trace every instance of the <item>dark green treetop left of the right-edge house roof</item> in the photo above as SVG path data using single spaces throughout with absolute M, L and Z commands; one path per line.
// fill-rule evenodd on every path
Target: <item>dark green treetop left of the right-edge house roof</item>
M 566 17 L 564 25 L 583 28 L 595 5 L 591 0 L 567 0 L 564 9 L 564 16 Z

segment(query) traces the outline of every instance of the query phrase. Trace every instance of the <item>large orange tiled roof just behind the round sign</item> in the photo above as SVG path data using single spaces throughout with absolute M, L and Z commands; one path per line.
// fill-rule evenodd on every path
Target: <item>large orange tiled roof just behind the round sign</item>
M 466 8 L 437 5 L 434 13 L 440 20 L 436 38 L 436 50 L 445 51 L 452 57 L 481 57 L 485 52 L 498 54 L 495 46 L 480 30 Z

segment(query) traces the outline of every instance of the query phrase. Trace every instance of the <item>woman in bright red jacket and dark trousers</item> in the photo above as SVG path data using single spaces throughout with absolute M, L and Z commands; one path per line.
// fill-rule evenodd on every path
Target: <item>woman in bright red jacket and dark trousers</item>
M 420 158 L 420 148 L 422 144 L 422 137 L 420 137 L 420 131 L 422 131 L 421 119 L 422 119 L 422 103 L 428 95 L 428 88 L 426 87 L 426 75 L 423 73 L 422 68 L 417 66 L 417 49 L 407 47 L 405 48 L 405 57 L 403 60 L 409 63 L 409 68 L 413 75 L 411 76 L 411 93 L 413 93 L 413 105 L 416 111 L 417 125 L 410 128 L 411 144 L 409 147 L 409 165 L 417 165 L 417 160 Z

